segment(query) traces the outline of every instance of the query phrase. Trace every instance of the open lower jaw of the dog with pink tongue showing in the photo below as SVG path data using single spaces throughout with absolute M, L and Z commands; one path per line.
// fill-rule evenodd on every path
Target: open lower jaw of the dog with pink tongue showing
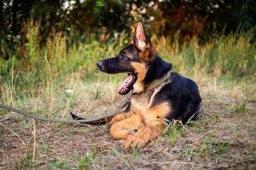
M 135 81 L 136 81 L 136 76 L 131 72 L 128 73 L 128 77 L 125 78 L 125 81 L 122 82 L 121 85 L 119 85 L 119 88 L 117 90 L 118 94 L 121 94 L 121 95 L 128 94 L 131 91 Z

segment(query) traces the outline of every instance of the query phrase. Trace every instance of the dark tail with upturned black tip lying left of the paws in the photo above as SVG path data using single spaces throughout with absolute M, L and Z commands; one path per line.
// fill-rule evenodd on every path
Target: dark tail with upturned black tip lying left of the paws
M 76 116 L 72 111 L 69 111 L 70 116 L 72 116 L 73 120 L 79 120 L 82 122 L 78 122 L 79 124 L 91 124 L 91 125 L 101 125 L 110 122 L 116 114 L 111 114 L 107 116 L 102 116 L 94 119 L 84 119 L 82 117 Z

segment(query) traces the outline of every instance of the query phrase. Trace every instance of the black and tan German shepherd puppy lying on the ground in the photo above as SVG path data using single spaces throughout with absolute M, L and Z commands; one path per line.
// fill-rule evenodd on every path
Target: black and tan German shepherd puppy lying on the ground
M 156 54 L 141 22 L 132 44 L 96 65 L 106 73 L 128 73 L 117 92 L 131 92 L 129 105 L 110 122 L 110 134 L 125 139 L 125 149 L 157 138 L 166 127 L 165 119 L 187 122 L 198 115 L 201 97 L 196 83 L 171 71 L 172 64 Z

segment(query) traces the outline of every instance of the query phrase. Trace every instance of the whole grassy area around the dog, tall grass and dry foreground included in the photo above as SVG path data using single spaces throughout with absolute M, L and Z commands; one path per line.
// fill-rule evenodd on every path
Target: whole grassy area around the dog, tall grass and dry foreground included
M 126 37 L 67 47 L 56 33 L 43 47 L 30 26 L 26 55 L 0 58 L 0 103 L 44 116 L 100 116 L 114 111 L 124 75 L 96 69 L 96 61 L 117 54 Z M 0 111 L 1 166 L 4 169 L 213 169 L 253 168 L 256 156 L 256 48 L 249 35 L 216 37 L 184 47 L 152 37 L 173 70 L 198 82 L 203 104 L 197 122 L 173 122 L 146 148 L 125 151 L 108 125 L 35 122 Z M 4 125 L 4 126 L 3 126 Z M 3 158 L 3 159 L 2 159 Z

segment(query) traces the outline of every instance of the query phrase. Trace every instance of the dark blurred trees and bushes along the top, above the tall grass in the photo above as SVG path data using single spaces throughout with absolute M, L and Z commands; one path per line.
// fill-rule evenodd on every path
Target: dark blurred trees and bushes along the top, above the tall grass
M 30 26 L 38 26 L 37 41 L 44 45 L 61 32 L 67 44 L 84 42 L 93 33 L 108 41 L 143 21 L 149 35 L 183 44 L 196 38 L 205 43 L 216 35 L 253 31 L 254 0 L 3 0 L 0 2 L 0 57 L 26 52 Z

